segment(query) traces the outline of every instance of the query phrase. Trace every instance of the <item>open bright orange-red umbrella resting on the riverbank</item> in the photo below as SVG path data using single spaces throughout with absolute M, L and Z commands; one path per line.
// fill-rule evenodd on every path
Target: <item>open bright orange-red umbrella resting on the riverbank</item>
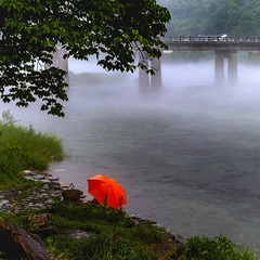
M 96 174 L 88 179 L 89 193 L 99 202 L 110 208 L 120 208 L 127 204 L 125 188 L 113 178 Z

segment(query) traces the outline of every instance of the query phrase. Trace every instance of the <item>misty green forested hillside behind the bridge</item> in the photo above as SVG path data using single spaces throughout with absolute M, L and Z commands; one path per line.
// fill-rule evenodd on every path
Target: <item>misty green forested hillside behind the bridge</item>
M 260 36 L 259 0 L 157 0 L 171 13 L 173 36 Z

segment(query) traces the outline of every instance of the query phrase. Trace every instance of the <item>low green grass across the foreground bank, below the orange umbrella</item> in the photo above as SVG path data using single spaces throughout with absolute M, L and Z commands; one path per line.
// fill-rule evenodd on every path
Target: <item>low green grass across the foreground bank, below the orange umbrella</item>
M 194 236 L 179 248 L 161 250 L 165 230 L 148 222 L 136 224 L 123 210 L 96 204 L 57 203 L 46 210 L 0 213 L 0 219 L 30 230 L 32 213 L 52 213 L 53 232 L 42 238 L 53 259 L 62 260 L 259 260 L 255 251 L 239 247 L 225 236 Z M 75 230 L 88 233 L 70 237 Z M 164 257 L 162 257 L 164 256 Z M 1 259 L 1 258 L 0 258 Z M 4 258 L 2 258 L 4 259 Z

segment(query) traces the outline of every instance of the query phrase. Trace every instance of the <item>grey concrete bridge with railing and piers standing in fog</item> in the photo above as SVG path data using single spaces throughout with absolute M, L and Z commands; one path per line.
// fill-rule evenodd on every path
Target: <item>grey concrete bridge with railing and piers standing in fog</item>
M 162 41 L 171 51 L 213 51 L 214 52 L 214 81 L 216 84 L 224 82 L 224 60 L 227 60 L 227 81 L 237 82 L 237 52 L 260 51 L 260 38 L 257 37 L 223 37 L 223 36 L 198 36 L 198 37 L 168 37 Z M 161 66 L 159 60 L 151 61 L 151 66 L 157 69 L 154 76 L 150 76 L 140 69 L 140 88 L 161 86 Z

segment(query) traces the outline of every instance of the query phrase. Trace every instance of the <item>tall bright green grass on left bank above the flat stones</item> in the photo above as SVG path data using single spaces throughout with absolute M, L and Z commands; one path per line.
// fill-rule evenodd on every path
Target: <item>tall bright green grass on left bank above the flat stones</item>
M 62 141 L 17 125 L 9 113 L 0 120 L 0 188 L 22 180 L 23 170 L 44 170 L 50 161 L 64 158 Z M 17 184 L 17 183 L 16 183 Z

